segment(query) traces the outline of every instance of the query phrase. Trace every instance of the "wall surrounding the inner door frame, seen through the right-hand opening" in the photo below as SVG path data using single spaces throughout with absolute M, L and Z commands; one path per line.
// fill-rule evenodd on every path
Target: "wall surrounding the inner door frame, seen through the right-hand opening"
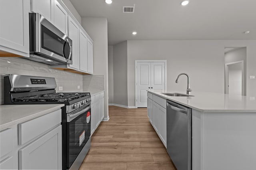
M 246 81 L 247 81 L 246 47 L 239 48 L 239 49 L 232 50 L 232 51 L 225 53 L 224 60 L 225 60 L 225 63 L 232 63 L 235 61 L 244 61 L 244 95 L 246 96 Z M 225 75 L 226 75 L 226 69 L 225 69 Z

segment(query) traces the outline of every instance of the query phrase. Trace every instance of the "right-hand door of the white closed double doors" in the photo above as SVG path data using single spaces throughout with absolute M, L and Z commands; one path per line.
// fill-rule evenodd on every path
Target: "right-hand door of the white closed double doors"
M 151 63 L 151 87 L 154 92 L 164 92 L 164 69 L 164 62 Z

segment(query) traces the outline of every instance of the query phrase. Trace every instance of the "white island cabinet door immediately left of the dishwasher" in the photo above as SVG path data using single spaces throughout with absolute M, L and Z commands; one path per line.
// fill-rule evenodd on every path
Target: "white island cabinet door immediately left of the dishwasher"
M 166 147 L 166 109 L 159 106 L 159 137 Z

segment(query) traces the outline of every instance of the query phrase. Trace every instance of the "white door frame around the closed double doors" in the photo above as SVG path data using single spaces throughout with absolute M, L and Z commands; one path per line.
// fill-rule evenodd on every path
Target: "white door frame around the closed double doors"
M 164 62 L 164 92 L 166 92 L 166 88 L 167 88 L 167 60 L 135 60 L 135 108 L 138 108 L 138 94 L 137 94 L 137 73 L 138 73 L 138 69 L 137 69 L 137 64 L 140 62 Z

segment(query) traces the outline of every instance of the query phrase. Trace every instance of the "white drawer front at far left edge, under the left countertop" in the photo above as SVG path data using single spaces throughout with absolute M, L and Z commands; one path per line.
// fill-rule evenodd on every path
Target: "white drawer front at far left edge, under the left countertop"
M 14 134 L 12 128 L 0 132 L 0 157 L 8 154 L 13 149 Z

